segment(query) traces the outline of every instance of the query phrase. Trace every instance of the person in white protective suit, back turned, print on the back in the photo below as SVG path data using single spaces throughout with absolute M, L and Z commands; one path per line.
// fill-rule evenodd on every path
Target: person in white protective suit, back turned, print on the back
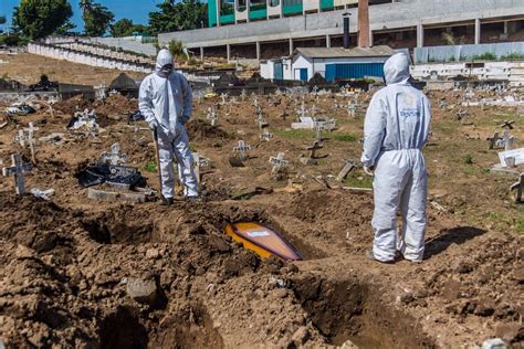
M 387 86 L 371 99 L 364 125 L 364 170 L 374 174 L 375 231 L 368 257 L 395 262 L 397 251 L 421 262 L 425 250 L 427 171 L 422 147 L 428 140 L 431 108 L 408 80 L 409 61 L 392 55 L 384 66 Z M 404 219 L 397 235 L 397 212 Z

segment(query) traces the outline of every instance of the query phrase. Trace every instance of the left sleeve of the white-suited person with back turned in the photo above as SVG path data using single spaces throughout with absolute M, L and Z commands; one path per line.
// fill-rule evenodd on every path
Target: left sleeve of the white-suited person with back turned
M 375 166 L 384 137 L 386 136 L 386 108 L 385 102 L 378 95 L 375 95 L 366 113 L 364 121 L 364 151 L 360 161 L 368 168 Z

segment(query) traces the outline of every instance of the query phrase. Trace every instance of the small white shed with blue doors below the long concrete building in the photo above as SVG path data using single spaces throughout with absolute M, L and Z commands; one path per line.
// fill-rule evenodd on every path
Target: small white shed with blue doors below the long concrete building
M 261 62 L 261 76 L 272 80 L 310 81 L 316 73 L 327 81 L 384 75 L 384 63 L 395 53 L 389 46 L 298 47 L 293 59 Z

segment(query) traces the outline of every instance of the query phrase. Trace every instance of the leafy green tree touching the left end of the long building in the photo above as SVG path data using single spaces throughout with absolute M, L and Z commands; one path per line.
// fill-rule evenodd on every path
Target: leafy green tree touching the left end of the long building
M 207 23 L 207 4 L 200 0 L 166 0 L 157 7 L 160 11 L 149 13 L 153 34 L 197 29 Z

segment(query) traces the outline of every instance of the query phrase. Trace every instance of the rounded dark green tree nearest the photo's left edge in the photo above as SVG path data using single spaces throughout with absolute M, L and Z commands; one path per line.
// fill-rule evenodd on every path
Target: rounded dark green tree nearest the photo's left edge
M 67 0 L 21 0 L 14 8 L 13 27 L 34 40 L 52 34 L 73 15 Z

